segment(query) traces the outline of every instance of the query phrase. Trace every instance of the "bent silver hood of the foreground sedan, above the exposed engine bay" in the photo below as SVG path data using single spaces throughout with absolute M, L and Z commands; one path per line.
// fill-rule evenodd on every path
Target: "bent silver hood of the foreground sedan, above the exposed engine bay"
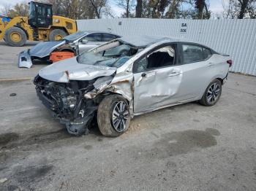
M 78 63 L 76 57 L 73 57 L 46 66 L 39 71 L 39 76 L 54 82 L 69 82 L 110 76 L 115 71 L 114 67 Z

